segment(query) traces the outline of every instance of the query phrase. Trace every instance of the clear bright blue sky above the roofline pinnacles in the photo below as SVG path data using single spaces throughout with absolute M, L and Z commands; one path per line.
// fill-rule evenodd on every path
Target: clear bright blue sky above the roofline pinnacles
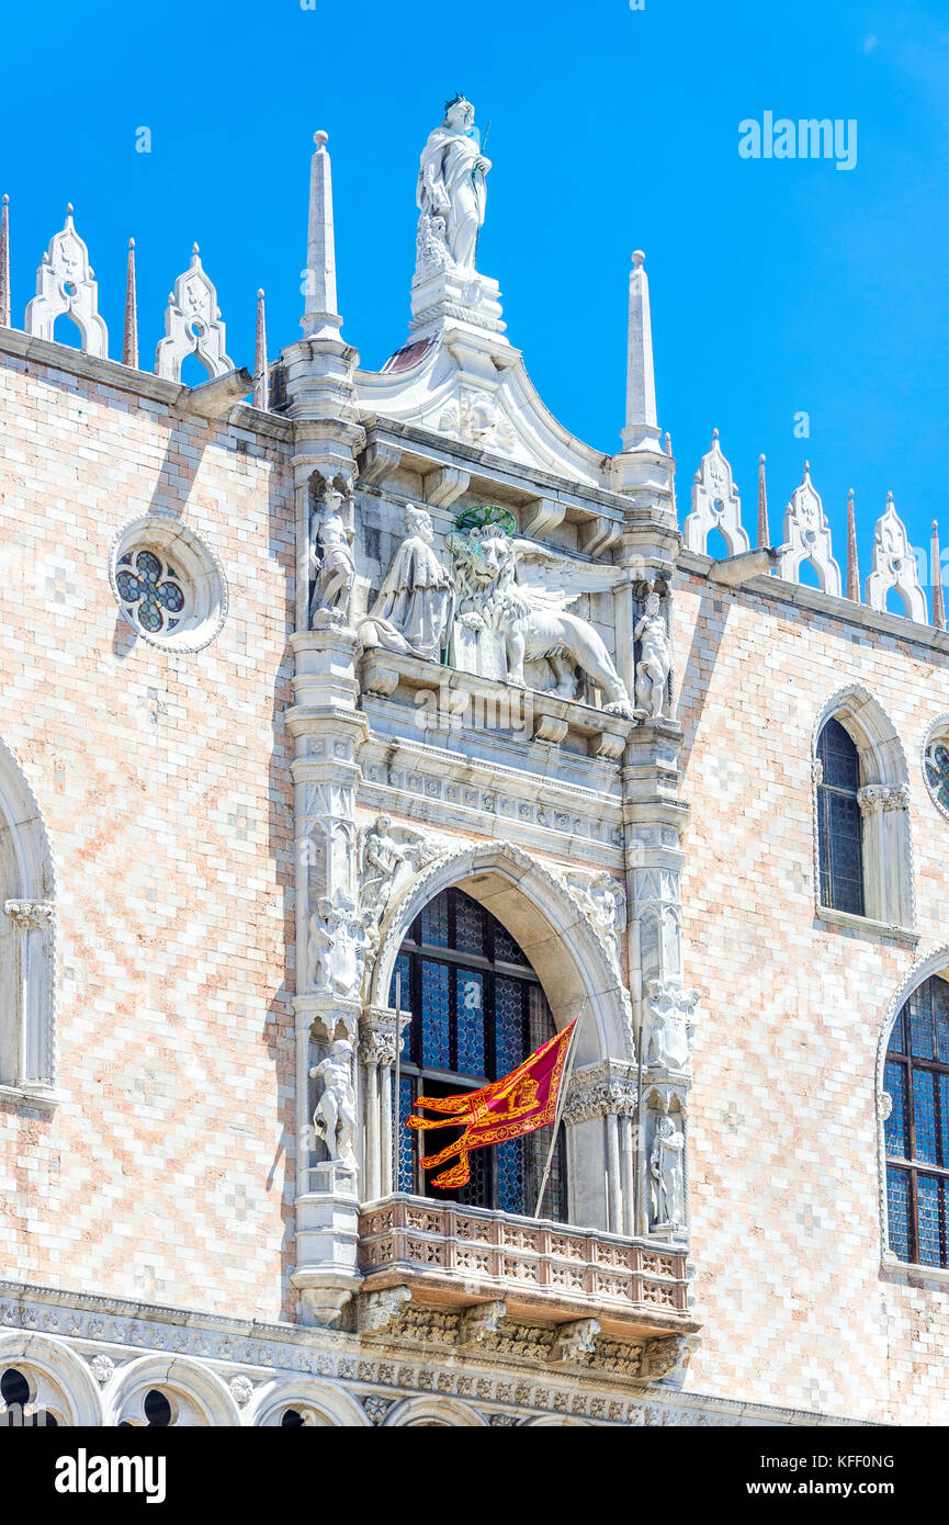
M 893 490 L 911 538 L 941 518 L 949 415 L 949 6 L 539 0 L 478 6 L 246 0 L 8 9 L 0 191 L 14 323 L 75 203 L 121 352 L 134 235 L 143 364 L 201 246 L 227 348 L 299 334 L 313 131 L 330 133 L 343 334 L 363 364 L 404 340 L 415 174 L 456 90 L 491 122 L 479 267 L 561 422 L 619 448 L 630 252 L 647 252 L 659 416 L 680 505 L 713 427 L 754 538 L 767 453 L 772 538 L 810 459 L 861 572 Z M 743 160 L 748 117 L 857 122 L 857 162 Z M 136 128 L 153 151 L 136 152 Z M 806 412 L 810 438 L 793 435 Z

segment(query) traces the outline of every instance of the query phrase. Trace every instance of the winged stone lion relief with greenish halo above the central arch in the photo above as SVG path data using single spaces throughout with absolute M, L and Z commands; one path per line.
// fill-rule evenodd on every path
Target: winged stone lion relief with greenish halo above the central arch
M 568 612 L 568 604 L 581 593 L 615 587 L 622 572 L 581 564 L 532 540 L 519 540 L 514 515 L 485 503 L 465 509 L 456 531 L 447 544 L 458 590 L 458 665 L 462 665 L 459 648 L 471 660 L 470 642 L 459 639 L 461 627 L 478 639 L 473 660 L 482 677 L 507 676 L 522 688 L 549 688 L 552 673 L 552 692 L 575 698 L 580 668 L 603 689 L 604 711 L 632 720 L 629 692 L 603 637 L 589 621 Z M 493 648 L 481 639 L 485 636 L 494 637 Z M 494 660 L 500 657 L 507 671 L 485 669 L 485 650 L 493 650 Z

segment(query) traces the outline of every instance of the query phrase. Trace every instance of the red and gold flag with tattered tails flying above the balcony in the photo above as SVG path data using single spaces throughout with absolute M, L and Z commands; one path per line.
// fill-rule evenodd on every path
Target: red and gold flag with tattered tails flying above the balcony
M 409 1118 L 409 1128 L 464 1127 L 464 1133 L 438 1154 L 426 1154 L 423 1170 L 444 1165 L 455 1154 L 458 1164 L 435 1176 L 432 1186 L 464 1186 L 470 1179 L 468 1154 L 488 1144 L 505 1144 L 536 1128 L 549 1127 L 557 1116 L 557 1098 L 563 1080 L 571 1039 L 577 1022 L 549 1039 L 543 1048 L 525 1058 L 503 1080 L 494 1080 L 481 1090 L 462 1090 L 453 1096 L 418 1096 L 415 1106 L 441 1112 L 441 1118 Z

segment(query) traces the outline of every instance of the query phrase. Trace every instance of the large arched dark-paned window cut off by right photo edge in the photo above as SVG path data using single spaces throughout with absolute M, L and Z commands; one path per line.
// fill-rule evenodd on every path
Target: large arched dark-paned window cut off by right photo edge
M 889 1249 L 917 1266 L 949 1266 L 949 982 L 912 991 L 893 1026 L 883 1089 Z

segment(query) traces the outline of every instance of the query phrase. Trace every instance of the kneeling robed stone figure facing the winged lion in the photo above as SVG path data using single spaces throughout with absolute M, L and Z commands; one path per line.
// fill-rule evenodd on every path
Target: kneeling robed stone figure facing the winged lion
M 424 508 L 407 503 L 406 538 L 359 628 L 363 647 L 441 660 L 452 628 L 455 587 L 432 549 L 432 540 L 430 515 Z

